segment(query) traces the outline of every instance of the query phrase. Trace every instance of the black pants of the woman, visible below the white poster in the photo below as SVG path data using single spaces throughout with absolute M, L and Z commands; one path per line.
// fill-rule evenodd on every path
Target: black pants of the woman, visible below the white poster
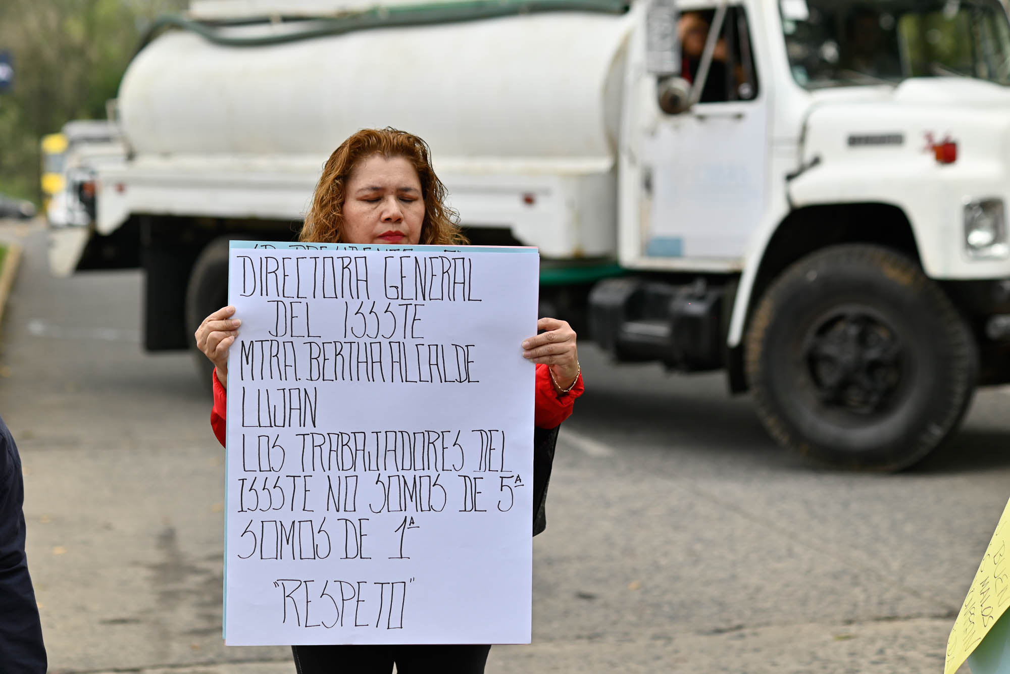
M 483 674 L 490 646 L 292 646 L 298 674 Z

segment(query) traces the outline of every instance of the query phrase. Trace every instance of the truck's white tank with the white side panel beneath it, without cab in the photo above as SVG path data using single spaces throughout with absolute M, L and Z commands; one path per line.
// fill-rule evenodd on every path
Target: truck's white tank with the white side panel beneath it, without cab
M 517 16 L 255 49 L 166 34 L 123 78 L 135 158 L 98 230 L 136 212 L 300 220 L 343 138 L 395 126 L 431 145 L 468 225 L 509 226 L 548 256 L 612 255 L 632 20 Z

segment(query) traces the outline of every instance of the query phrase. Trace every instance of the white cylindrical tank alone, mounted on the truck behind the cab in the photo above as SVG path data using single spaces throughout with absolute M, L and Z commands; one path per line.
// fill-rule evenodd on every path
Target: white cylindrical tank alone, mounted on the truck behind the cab
M 255 38 L 299 23 L 216 31 Z M 627 13 L 558 12 L 263 46 L 171 31 L 126 71 L 120 120 L 138 156 L 321 160 L 354 131 L 391 125 L 425 138 L 450 172 L 610 163 L 629 29 Z

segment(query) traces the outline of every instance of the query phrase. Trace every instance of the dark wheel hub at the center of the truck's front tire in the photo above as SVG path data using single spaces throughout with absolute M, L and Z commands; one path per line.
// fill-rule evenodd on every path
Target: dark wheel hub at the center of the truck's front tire
M 880 412 L 901 381 L 901 341 L 867 311 L 823 317 L 810 331 L 803 352 L 817 396 L 828 407 L 865 415 Z

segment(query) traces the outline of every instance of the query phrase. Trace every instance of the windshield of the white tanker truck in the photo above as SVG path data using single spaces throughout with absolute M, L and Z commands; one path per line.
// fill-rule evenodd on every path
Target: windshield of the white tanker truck
M 966 77 L 1010 85 L 999 0 L 781 0 L 793 78 L 807 89 Z

